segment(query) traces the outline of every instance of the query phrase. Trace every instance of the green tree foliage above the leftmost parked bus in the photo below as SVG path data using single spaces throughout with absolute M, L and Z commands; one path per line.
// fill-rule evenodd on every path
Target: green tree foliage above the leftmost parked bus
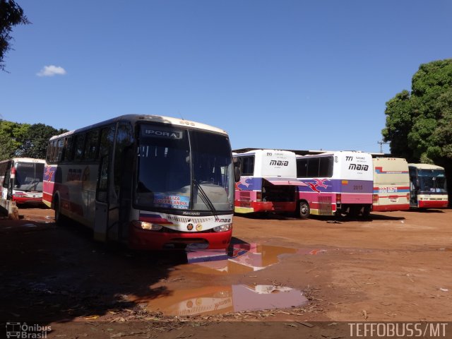
M 0 160 L 11 157 L 44 159 L 49 138 L 67 132 L 44 124 L 19 124 L 0 120 Z

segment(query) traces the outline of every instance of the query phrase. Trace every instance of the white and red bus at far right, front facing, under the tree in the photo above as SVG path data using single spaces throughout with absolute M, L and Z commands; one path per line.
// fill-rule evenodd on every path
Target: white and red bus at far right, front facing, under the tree
M 410 206 L 446 208 L 448 206 L 444 168 L 428 164 L 408 164 L 410 171 Z

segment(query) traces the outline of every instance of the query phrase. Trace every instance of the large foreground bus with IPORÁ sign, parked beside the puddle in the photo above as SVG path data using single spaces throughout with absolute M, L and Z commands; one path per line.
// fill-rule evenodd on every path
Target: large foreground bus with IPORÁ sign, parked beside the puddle
M 124 115 L 53 136 L 44 203 L 61 223 L 134 249 L 226 249 L 234 169 L 227 133 L 184 119 Z

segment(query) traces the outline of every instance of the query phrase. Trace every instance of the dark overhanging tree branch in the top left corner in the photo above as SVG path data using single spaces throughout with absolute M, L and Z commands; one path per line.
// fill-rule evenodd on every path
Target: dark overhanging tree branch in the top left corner
M 30 21 L 13 0 L 0 0 L 0 69 L 5 71 L 4 56 L 11 49 L 11 30 L 15 25 L 28 25 Z

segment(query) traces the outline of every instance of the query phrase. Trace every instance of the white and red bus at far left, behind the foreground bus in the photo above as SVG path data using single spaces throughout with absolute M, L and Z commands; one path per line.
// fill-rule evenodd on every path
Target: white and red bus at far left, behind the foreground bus
M 1 198 L 16 203 L 42 203 L 45 160 L 13 157 L 0 161 Z

